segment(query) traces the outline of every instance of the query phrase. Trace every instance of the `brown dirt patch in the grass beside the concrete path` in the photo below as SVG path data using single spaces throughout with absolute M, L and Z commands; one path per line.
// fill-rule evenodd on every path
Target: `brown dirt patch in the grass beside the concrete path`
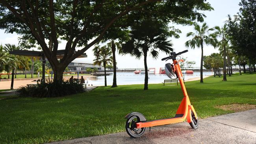
M 219 106 L 216 106 L 216 108 L 223 109 L 225 111 L 239 112 L 239 111 L 247 111 L 247 110 L 250 110 L 250 109 L 256 109 L 256 105 L 251 105 L 251 104 L 229 104 L 229 105 L 219 105 Z

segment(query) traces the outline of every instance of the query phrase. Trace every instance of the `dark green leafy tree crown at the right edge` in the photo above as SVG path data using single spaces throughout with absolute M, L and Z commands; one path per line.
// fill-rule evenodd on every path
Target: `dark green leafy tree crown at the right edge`
M 235 53 L 252 61 L 256 57 L 256 1 L 241 0 L 239 6 L 234 18 L 228 15 L 228 34 Z

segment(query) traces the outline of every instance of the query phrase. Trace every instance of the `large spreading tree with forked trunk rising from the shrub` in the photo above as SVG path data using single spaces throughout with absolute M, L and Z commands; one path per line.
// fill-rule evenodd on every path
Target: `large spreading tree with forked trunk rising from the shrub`
M 0 9 L 0 28 L 21 35 L 23 46 L 40 46 L 52 66 L 54 81 L 62 81 L 71 61 L 101 41 L 110 27 L 120 27 L 113 25 L 117 20 L 134 21 L 136 17 L 129 16 L 135 12 L 191 24 L 191 20 L 203 20 L 201 11 L 213 8 L 204 0 L 0 0 Z M 61 39 L 67 43 L 59 61 Z M 75 52 L 77 46 L 82 49 Z

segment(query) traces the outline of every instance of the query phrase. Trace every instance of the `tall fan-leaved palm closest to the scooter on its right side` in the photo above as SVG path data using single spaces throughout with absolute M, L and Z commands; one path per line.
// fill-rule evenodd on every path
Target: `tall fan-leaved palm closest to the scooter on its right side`
M 197 46 L 198 48 L 201 48 L 202 54 L 201 54 L 201 64 L 200 64 L 200 83 L 203 83 L 203 60 L 204 60 L 204 50 L 203 46 L 204 44 L 208 45 L 211 44 L 215 48 L 216 39 L 212 35 L 206 35 L 208 31 L 212 30 L 209 29 L 208 25 L 204 22 L 202 24 L 202 27 L 199 26 L 199 24 L 194 25 L 195 33 L 189 32 L 187 33 L 187 37 L 192 36 L 193 38 L 189 41 L 185 42 L 186 47 L 191 47 L 195 49 Z

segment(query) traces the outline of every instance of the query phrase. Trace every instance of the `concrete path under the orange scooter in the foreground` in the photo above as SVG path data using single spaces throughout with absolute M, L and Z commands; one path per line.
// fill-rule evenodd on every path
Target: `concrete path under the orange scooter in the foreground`
M 256 109 L 199 120 L 198 129 L 187 122 L 147 128 L 141 138 L 126 132 L 77 138 L 51 144 L 256 144 Z

